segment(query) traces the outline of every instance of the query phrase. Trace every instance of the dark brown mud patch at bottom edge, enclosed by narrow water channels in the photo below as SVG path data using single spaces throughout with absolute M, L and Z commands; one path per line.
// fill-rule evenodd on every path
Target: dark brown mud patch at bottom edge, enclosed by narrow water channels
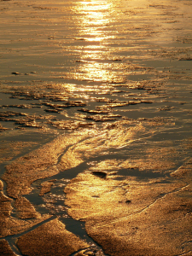
M 41 225 L 38 229 L 20 236 L 17 242 L 24 255 L 71 255 L 89 247 L 84 241 L 65 229 L 57 219 Z

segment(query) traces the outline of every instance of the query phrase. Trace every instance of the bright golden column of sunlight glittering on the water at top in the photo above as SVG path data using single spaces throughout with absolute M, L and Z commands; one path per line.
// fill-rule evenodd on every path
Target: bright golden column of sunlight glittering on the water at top
M 113 20 L 115 19 L 113 1 L 80 1 L 73 8 L 78 15 L 79 35 L 82 40 L 79 66 L 75 79 L 96 82 L 112 82 L 117 80 L 116 73 L 108 70 L 111 51 L 104 44 L 115 38 Z M 101 63 L 102 61 L 102 63 Z

